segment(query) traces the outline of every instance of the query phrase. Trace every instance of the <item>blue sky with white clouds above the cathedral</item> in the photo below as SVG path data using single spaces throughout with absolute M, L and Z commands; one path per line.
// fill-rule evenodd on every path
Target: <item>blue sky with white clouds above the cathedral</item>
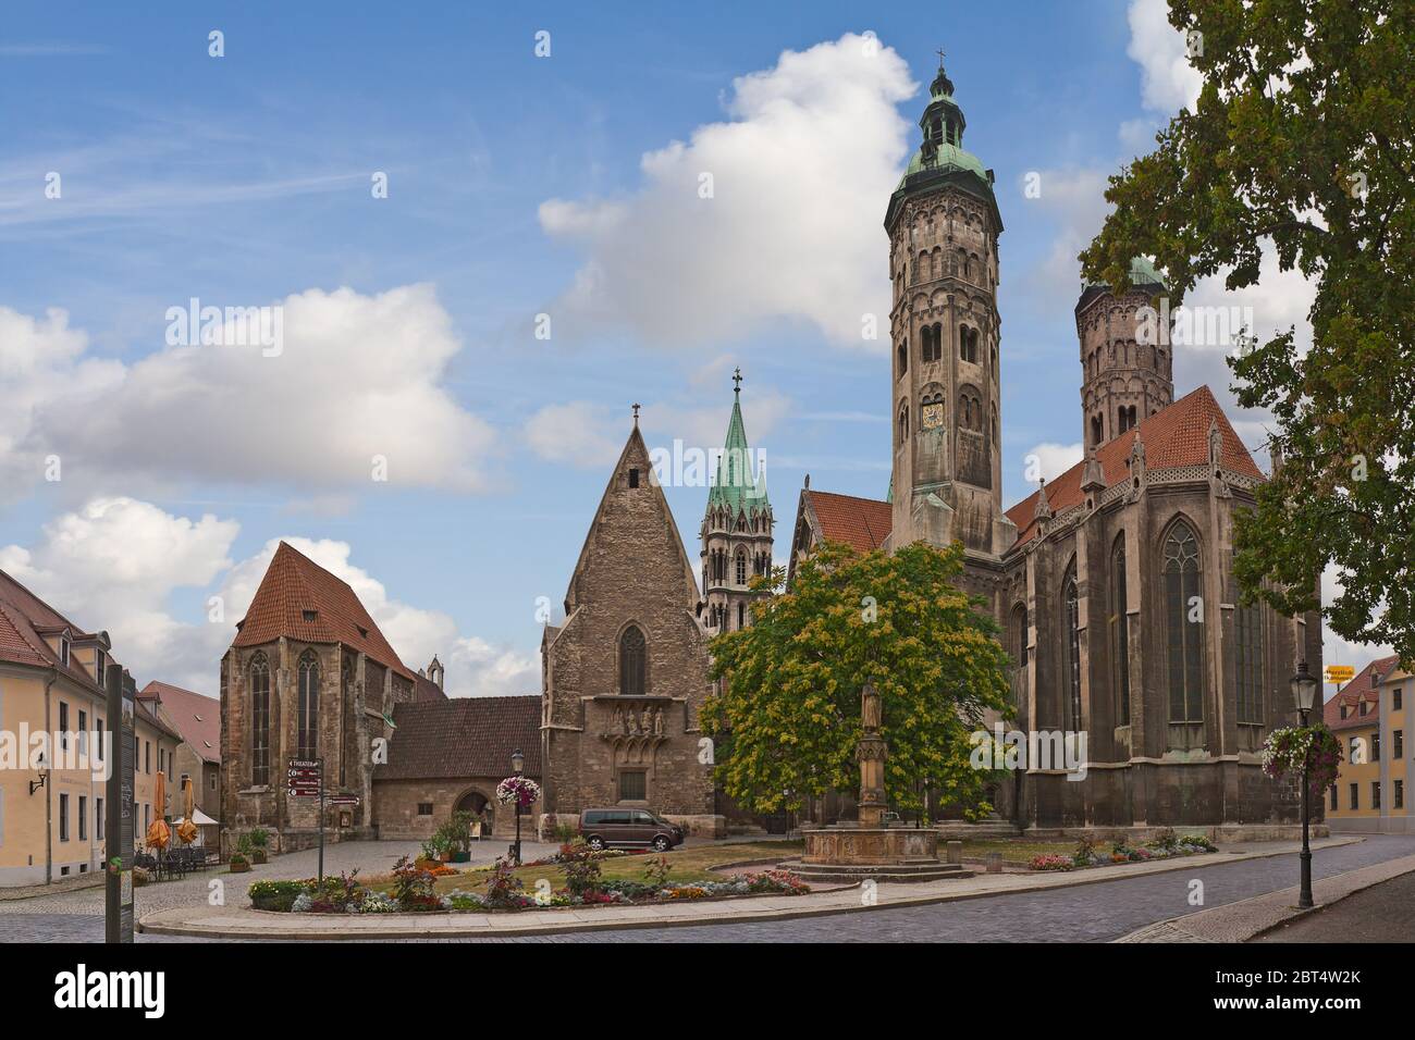
M 1005 505 L 1081 457 L 1075 255 L 1199 91 L 1160 0 L 345 7 L 0 24 L 0 569 L 140 685 L 216 692 L 284 539 L 449 692 L 538 692 L 631 405 L 692 458 L 739 366 L 778 557 L 807 474 L 882 498 L 866 317 L 938 50 L 1005 224 Z M 1269 258 L 1189 301 L 1300 340 L 1310 299 Z M 1176 395 L 1264 463 L 1227 349 L 1176 348 Z M 665 492 L 696 562 L 708 488 Z

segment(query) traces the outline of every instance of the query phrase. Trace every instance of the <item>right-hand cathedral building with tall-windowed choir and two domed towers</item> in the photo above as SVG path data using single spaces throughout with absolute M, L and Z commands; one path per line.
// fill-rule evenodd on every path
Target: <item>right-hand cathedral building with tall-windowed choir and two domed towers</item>
M 999 785 L 1019 828 L 1281 831 L 1299 797 L 1262 774 L 1261 749 L 1296 723 L 1298 662 L 1320 672 L 1320 621 L 1238 601 L 1234 515 L 1264 475 L 1208 388 L 1176 400 L 1170 352 L 1136 335 L 1163 277 L 1138 259 L 1121 296 L 1084 287 L 1084 460 L 1003 509 L 1002 216 L 942 67 L 920 127 L 884 215 L 890 492 L 832 495 L 807 478 L 792 560 L 825 539 L 862 552 L 962 542 L 964 586 L 1013 659 L 1010 727 L 1087 741 L 1082 778 L 1032 764 Z

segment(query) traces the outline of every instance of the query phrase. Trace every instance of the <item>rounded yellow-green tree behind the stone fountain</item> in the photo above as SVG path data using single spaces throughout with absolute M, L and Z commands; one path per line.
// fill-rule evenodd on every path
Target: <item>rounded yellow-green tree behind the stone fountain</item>
M 775 593 L 751 624 L 712 642 L 722 692 L 703 706 L 717 739 L 716 775 L 757 812 L 799 809 L 805 797 L 859 791 L 860 689 L 874 682 L 889 744 L 884 787 L 900 811 L 923 788 L 971 818 L 992 809 L 992 771 L 968 758 L 983 712 L 1009 713 L 1007 655 L 996 624 L 955 586 L 962 548 L 923 542 L 893 555 L 825 543 L 758 587 Z

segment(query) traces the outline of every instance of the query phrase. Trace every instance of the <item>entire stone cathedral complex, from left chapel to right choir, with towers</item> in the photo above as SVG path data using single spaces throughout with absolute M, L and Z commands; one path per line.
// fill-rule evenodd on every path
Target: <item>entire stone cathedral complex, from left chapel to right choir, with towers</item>
M 1167 291 L 1163 276 L 1138 259 L 1119 296 L 1082 289 L 1084 458 L 1005 509 L 1002 215 L 992 171 L 964 150 L 942 68 L 920 127 L 884 214 L 889 494 L 833 494 L 807 477 L 788 582 L 825 541 L 859 552 L 962 543 L 961 583 L 1013 662 L 1007 727 L 1085 740 L 1082 770 L 1030 761 L 996 785 L 1010 828 L 1285 833 L 1299 819 L 1298 791 L 1262 774 L 1261 749 L 1296 720 L 1288 681 L 1298 662 L 1320 672 L 1320 623 L 1240 603 L 1234 519 L 1264 474 L 1208 388 L 1176 399 L 1170 351 L 1138 334 L 1138 311 Z M 282 543 L 222 659 L 226 840 L 260 825 L 280 848 L 317 840 L 317 807 L 283 782 L 291 758 L 323 760 L 338 795 L 324 819 L 335 840 L 426 838 L 457 809 L 509 833 L 515 819 L 492 797 L 512 750 L 542 784 L 532 807 L 542 836 L 610 805 L 705 836 L 747 816 L 715 791 L 713 741 L 699 722 L 709 642 L 751 623 L 768 593 L 750 583 L 773 566 L 775 521 L 741 419 L 740 372 L 734 382 L 696 565 L 634 406 L 565 618 L 542 632 L 538 693 L 449 699 L 436 658 L 412 672 L 347 583 Z M 887 726 L 889 705 L 884 715 Z M 825 821 L 849 812 L 849 798 L 811 807 Z

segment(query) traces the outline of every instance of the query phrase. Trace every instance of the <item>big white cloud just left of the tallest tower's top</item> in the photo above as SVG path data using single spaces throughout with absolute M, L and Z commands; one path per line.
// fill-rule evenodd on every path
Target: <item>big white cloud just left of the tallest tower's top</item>
M 914 91 L 893 50 L 855 34 L 784 51 L 733 81 L 730 122 L 647 153 L 637 194 L 546 201 L 545 232 L 586 253 L 558 330 L 689 347 L 787 318 L 865 342 L 862 317 L 889 313 L 879 224 L 910 130 L 894 106 Z

